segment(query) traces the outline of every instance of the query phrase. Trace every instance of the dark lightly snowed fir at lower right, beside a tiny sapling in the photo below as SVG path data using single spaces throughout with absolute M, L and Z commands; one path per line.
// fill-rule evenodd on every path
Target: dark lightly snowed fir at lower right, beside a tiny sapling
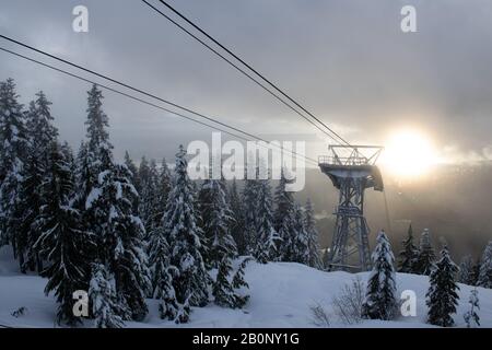
M 441 259 L 435 262 L 435 267 L 430 275 L 430 283 L 426 296 L 427 323 L 441 327 L 452 327 L 455 322 L 453 314 L 456 313 L 459 290 L 456 283 L 458 267 L 449 257 L 447 247 L 441 250 Z

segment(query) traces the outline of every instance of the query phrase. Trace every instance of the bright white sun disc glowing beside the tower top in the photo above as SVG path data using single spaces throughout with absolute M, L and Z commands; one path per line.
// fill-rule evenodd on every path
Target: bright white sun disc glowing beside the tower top
M 417 130 L 400 130 L 386 142 L 382 165 L 400 178 L 417 178 L 437 163 L 436 151 L 425 135 Z

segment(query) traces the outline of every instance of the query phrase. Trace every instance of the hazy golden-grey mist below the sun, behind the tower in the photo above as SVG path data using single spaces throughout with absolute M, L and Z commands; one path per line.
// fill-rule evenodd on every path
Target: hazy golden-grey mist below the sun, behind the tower
M 413 183 L 398 183 L 386 177 L 385 186 L 391 230 L 386 228 L 384 195 L 373 189 L 365 192 L 372 246 L 377 231 L 385 229 L 397 254 L 412 223 L 417 242 L 423 229 L 430 229 L 434 246 L 440 247 L 445 240 L 454 259 L 459 260 L 467 254 L 479 257 L 492 237 L 489 214 L 492 208 L 492 163 L 442 165 Z M 307 170 L 306 187 L 296 197 L 301 201 L 307 197 L 313 200 L 320 245 L 329 247 L 335 224 L 332 212 L 338 201 L 338 192 L 331 182 L 320 171 Z

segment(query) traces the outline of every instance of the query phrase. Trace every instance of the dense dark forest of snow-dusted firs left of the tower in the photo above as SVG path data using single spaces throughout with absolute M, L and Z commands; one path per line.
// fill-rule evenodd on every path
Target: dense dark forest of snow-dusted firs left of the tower
M 243 307 L 245 268 L 294 261 L 321 268 L 314 210 L 297 205 L 282 176 L 200 184 L 175 166 L 126 153 L 115 162 L 103 94 L 87 92 L 86 137 L 74 153 L 59 141 L 43 92 L 25 108 L 14 81 L 0 83 L 0 246 L 22 272 L 47 278 L 59 324 L 77 325 L 73 292 L 87 291 L 96 327 L 142 320 L 145 299 L 163 319 L 189 320 L 191 306 Z M 241 187 L 241 188 L 239 188 Z

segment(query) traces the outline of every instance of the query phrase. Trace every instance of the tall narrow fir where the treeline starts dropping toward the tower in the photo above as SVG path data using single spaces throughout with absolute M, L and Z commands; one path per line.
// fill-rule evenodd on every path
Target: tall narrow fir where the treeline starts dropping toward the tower
M 292 192 L 286 191 L 290 180 L 285 177 L 285 170 L 282 168 L 279 185 L 276 188 L 274 201 L 277 205 L 273 214 L 273 228 L 278 232 L 282 242 L 279 246 L 279 254 L 282 261 L 296 261 L 298 250 L 296 247 L 295 228 L 295 202 Z

